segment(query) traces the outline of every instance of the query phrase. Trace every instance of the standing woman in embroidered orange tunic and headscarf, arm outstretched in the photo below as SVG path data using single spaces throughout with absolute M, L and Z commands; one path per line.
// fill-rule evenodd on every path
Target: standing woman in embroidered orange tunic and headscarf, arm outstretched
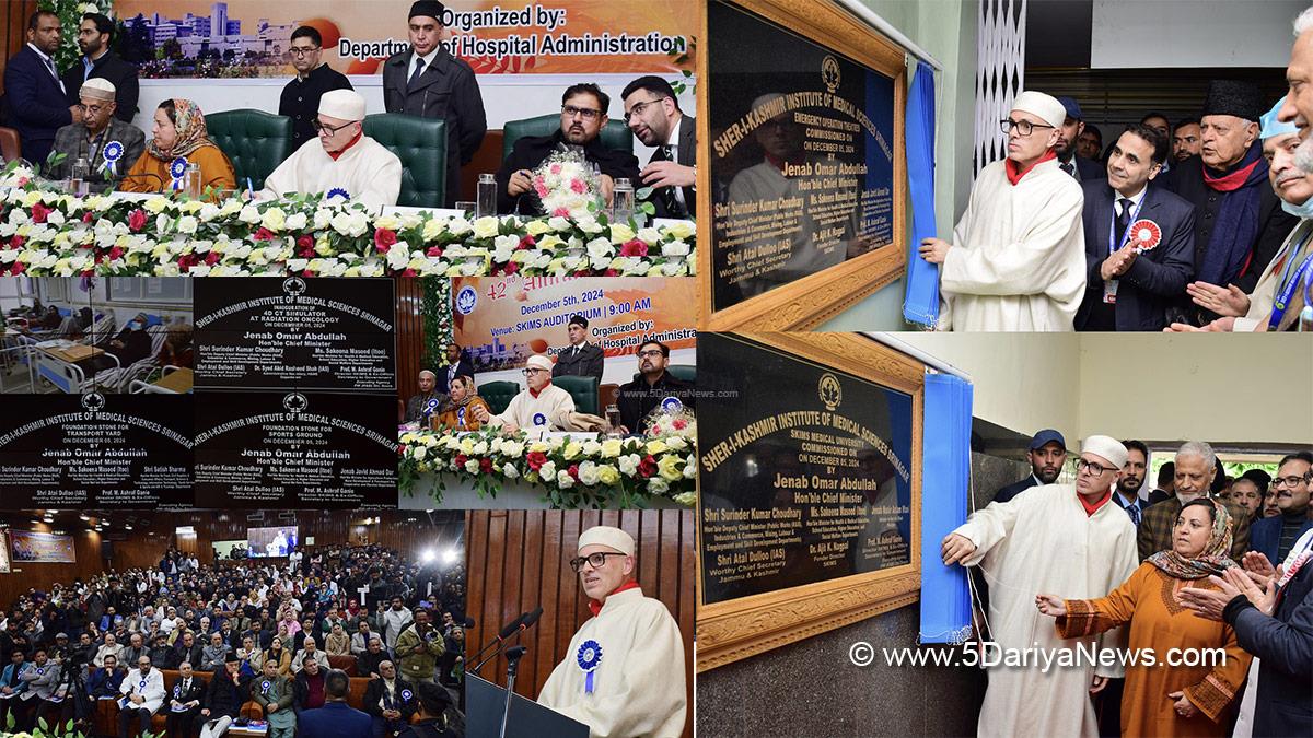
M 1195 617 L 1182 604 L 1186 587 L 1216 588 L 1208 580 L 1236 566 L 1230 513 L 1200 498 L 1187 503 L 1173 528 L 1173 548 L 1153 554 L 1120 587 L 1096 600 L 1035 597 L 1040 612 L 1057 617 L 1058 636 L 1075 638 L 1130 624 L 1130 653 L 1140 659 L 1127 666 L 1121 699 L 1123 735 L 1221 737 L 1226 709 L 1239 691 L 1250 655 L 1236 642 L 1230 626 Z M 1148 663 L 1145 649 L 1153 649 Z M 1169 664 L 1175 657 L 1196 657 Z M 1197 658 L 1201 649 L 1225 649 L 1225 663 Z

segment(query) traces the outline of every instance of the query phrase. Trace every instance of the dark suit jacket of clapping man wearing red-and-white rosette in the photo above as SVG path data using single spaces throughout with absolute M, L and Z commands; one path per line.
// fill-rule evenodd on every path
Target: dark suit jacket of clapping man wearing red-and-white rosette
M 1104 281 L 1099 269 L 1108 259 L 1108 239 L 1116 215 L 1116 192 L 1108 183 L 1088 181 L 1085 189 L 1086 289 L 1075 314 L 1078 331 L 1162 331 L 1171 318 L 1183 318 L 1180 299 L 1195 276 L 1195 207 L 1157 186 L 1145 189 L 1140 221 L 1157 223 L 1161 240 L 1136 257 L 1117 277 L 1117 302 L 1103 302 Z M 1173 315 L 1169 315 L 1169 311 Z

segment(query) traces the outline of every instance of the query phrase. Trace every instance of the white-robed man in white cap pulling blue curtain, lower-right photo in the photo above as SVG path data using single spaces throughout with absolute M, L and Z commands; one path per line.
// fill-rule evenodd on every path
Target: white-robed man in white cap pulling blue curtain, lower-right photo
M 1125 464 L 1127 448 L 1117 440 L 1090 436 L 1081 446 L 1074 486 L 1041 485 L 990 503 L 944 538 L 945 565 L 979 566 L 989 582 L 989 625 L 1004 653 L 987 655 L 1077 647 L 1075 641 L 1058 638 L 1053 621 L 1036 611 L 1036 592 L 1102 597 L 1140 565 L 1136 527 L 1119 506 L 1108 504 Z M 1120 629 L 1079 642 L 1086 651 L 1125 647 Z M 1124 676 L 1120 663 L 1054 664 L 1046 672 L 1033 657 L 1025 664 L 1004 662 L 990 670 L 978 735 L 1098 735 L 1087 693 Z

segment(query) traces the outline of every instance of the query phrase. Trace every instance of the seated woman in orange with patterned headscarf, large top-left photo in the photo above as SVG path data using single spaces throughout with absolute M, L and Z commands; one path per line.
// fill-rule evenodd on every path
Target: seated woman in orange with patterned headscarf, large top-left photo
M 201 165 L 201 190 L 235 189 L 232 162 L 210 141 L 205 114 L 190 100 L 173 98 L 155 109 L 154 137 L 123 177 L 123 192 L 181 189 L 188 164 Z

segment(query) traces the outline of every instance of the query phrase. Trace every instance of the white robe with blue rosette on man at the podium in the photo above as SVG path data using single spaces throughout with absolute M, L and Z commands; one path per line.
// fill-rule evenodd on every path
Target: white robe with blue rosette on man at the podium
M 576 661 L 586 641 L 601 647 L 592 693 Z M 570 640 L 538 703 L 587 725 L 590 738 L 678 738 L 688 699 L 684 642 L 670 609 L 637 588 L 607 597 Z

